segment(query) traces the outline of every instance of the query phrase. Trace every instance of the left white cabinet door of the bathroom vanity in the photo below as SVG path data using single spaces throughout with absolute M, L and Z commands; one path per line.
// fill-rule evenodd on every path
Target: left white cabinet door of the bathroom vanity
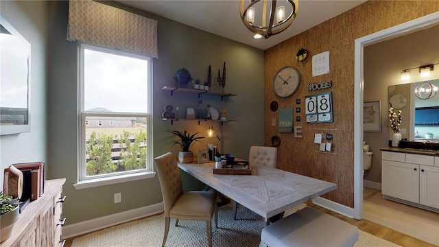
M 419 165 L 382 160 L 381 193 L 419 202 Z

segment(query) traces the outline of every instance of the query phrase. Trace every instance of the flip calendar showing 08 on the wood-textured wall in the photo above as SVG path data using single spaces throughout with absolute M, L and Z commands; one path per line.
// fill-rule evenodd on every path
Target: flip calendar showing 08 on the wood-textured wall
M 307 123 L 330 123 L 332 115 L 332 93 L 319 93 L 305 97 Z

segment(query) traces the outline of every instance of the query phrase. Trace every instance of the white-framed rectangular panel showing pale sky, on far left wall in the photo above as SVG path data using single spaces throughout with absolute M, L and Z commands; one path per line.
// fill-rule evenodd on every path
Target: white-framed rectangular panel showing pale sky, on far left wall
M 30 44 L 0 17 L 0 134 L 30 132 Z

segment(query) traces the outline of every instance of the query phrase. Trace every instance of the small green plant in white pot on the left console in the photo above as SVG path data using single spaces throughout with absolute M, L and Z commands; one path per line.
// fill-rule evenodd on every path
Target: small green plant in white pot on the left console
M 14 223 L 19 219 L 19 199 L 4 195 L 0 191 L 0 242 L 5 241 L 10 237 Z

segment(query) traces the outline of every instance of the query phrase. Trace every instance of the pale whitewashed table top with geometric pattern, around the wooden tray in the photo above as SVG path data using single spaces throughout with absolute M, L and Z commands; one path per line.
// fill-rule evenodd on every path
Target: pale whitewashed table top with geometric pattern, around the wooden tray
M 178 167 L 265 218 L 337 189 L 335 183 L 272 167 L 252 167 L 251 175 L 213 174 L 214 162 L 180 163 Z

